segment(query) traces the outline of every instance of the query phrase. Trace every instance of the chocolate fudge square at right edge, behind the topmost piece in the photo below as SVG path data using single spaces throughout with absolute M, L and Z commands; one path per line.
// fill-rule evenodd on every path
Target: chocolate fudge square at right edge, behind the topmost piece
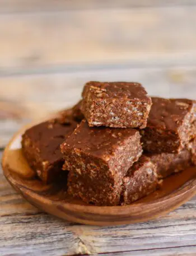
M 178 153 L 196 136 L 196 101 L 152 97 L 143 148 L 152 153 Z

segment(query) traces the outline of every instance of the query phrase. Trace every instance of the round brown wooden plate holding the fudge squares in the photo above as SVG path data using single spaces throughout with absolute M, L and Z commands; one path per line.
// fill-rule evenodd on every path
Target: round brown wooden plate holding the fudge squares
M 196 168 L 165 179 L 160 190 L 130 206 L 91 206 L 67 194 L 66 176 L 51 185 L 36 179 L 21 150 L 22 128 L 4 150 L 2 167 L 13 188 L 40 210 L 64 220 L 90 225 L 120 225 L 155 219 L 173 211 L 196 194 Z

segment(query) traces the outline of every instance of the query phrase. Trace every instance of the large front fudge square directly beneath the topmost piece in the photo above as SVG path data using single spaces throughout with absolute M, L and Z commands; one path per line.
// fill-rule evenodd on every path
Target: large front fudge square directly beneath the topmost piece
M 86 120 L 62 144 L 68 192 L 87 203 L 118 205 L 123 177 L 142 154 L 135 129 L 88 127 Z

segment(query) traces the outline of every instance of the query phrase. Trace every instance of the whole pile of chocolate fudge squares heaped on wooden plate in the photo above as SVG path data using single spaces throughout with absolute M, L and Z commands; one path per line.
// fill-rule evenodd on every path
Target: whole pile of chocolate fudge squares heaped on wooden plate
M 140 83 L 88 82 L 82 100 L 28 129 L 24 155 L 43 183 L 68 173 L 68 193 L 130 204 L 196 165 L 196 101 L 150 97 Z

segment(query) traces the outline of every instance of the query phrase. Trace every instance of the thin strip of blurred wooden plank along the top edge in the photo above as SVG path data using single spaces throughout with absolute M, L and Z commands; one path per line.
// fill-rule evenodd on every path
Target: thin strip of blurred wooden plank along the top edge
M 130 8 L 194 5 L 194 0 L 0 0 L 0 12 L 58 11 L 85 8 Z

